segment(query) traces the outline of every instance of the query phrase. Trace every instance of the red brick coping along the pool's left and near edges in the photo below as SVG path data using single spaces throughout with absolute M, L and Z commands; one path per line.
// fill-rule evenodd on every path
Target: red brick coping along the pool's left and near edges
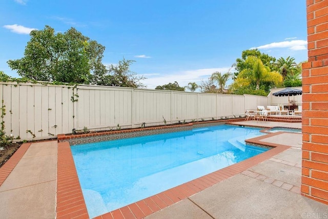
M 268 128 L 265 127 L 264 129 Z M 282 151 L 291 148 L 290 146 L 260 141 L 264 138 L 279 135 L 281 133 L 284 132 L 267 133 L 267 135 L 262 135 L 245 141 L 251 145 L 273 147 L 271 150 L 265 151 L 237 164 L 233 164 L 210 174 L 201 176 L 190 182 L 147 197 L 136 203 L 132 203 L 128 206 L 124 206 L 103 215 L 96 216 L 95 218 L 143 218 L 156 211 L 178 203 L 189 196 L 192 196 L 204 189 L 220 183 L 227 178 L 237 175 L 251 167 L 260 164 L 263 161 L 268 160 L 269 158 L 281 153 Z M 56 195 L 57 218 L 89 217 L 82 190 L 78 181 L 72 152 L 68 142 L 58 143 Z

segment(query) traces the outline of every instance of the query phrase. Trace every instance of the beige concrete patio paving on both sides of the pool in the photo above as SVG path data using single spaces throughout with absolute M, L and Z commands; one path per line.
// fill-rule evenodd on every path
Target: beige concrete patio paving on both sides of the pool
M 246 121 L 236 124 L 301 128 L 299 123 Z M 279 132 L 258 141 L 291 147 L 242 173 L 154 212 L 147 218 L 328 216 L 327 205 L 300 195 L 302 135 Z M 56 141 L 32 143 L 0 186 L 1 217 L 54 218 L 56 163 Z

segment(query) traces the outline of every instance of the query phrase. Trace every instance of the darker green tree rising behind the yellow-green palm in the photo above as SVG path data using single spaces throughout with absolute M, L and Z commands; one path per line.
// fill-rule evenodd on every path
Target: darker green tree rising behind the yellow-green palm
M 263 65 L 269 67 L 271 71 L 276 70 L 275 57 L 265 53 L 261 53 L 258 49 L 248 49 L 241 52 L 241 58 L 237 58 L 236 63 L 233 65 L 236 69 L 236 72 L 234 73 L 234 78 L 236 78 L 242 70 L 250 68 L 249 64 L 246 63 L 246 59 L 249 56 L 255 56 L 259 58 Z

